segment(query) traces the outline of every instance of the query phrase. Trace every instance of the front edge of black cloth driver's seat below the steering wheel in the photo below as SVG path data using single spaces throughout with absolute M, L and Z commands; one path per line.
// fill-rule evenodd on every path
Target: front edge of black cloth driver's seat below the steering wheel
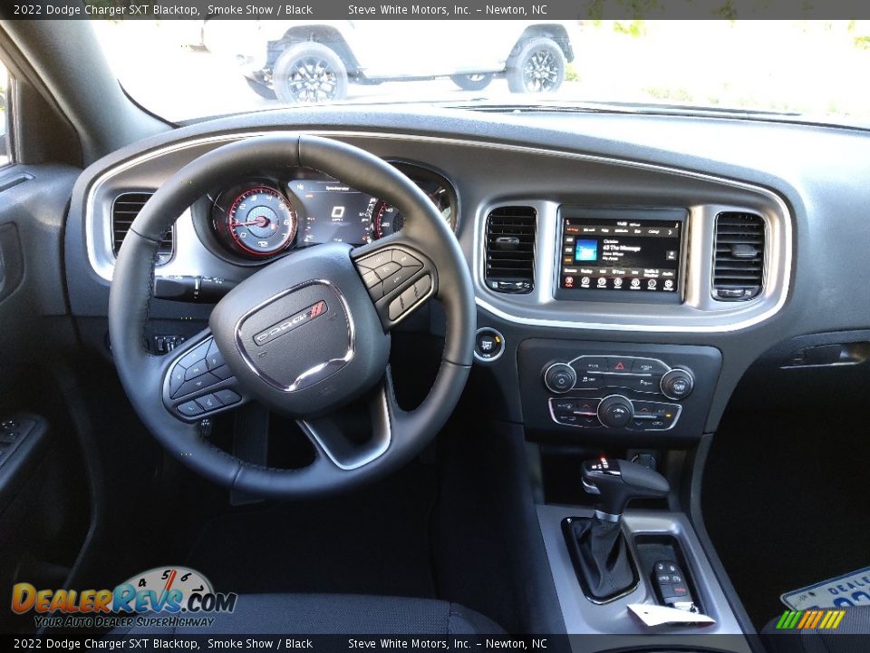
M 167 617 L 143 615 L 145 617 Z M 496 635 L 504 630 L 483 615 L 435 599 L 353 594 L 241 594 L 231 613 L 178 613 L 214 617 L 211 628 L 115 629 L 112 635 Z

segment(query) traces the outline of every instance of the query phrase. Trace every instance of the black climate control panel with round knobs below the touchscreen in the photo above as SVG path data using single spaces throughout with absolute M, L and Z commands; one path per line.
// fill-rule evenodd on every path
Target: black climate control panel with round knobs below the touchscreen
M 532 339 L 519 364 L 527 427 L 638 440 L 701 435 L 721 355 L 705 346 Z

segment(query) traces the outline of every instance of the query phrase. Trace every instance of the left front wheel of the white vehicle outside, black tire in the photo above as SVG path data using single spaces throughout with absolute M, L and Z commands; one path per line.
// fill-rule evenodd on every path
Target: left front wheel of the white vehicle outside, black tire
M 347 68 L 332 48 L 315 43 L 296 44 L 278 57 L 272 83 L 281 102 L 337 102 L 347 95 Z

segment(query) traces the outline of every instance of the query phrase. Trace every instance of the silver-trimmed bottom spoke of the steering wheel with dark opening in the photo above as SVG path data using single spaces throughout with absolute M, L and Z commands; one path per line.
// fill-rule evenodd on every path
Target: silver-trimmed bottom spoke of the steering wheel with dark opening
M 390 448 L 393 424 L 401 408 L 392 392 L 390 369 L 361 399 L 332 414 L 297 424 L 314 447 L 343 471 L 359 469 Z

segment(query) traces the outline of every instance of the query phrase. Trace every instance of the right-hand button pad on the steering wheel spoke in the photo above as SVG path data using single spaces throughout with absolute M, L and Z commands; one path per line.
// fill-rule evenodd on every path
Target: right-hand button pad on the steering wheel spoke
M 434 264 L 401 233 L 354 249 L 352 258 L 384 331 L 409 317 L 438 291 Z

